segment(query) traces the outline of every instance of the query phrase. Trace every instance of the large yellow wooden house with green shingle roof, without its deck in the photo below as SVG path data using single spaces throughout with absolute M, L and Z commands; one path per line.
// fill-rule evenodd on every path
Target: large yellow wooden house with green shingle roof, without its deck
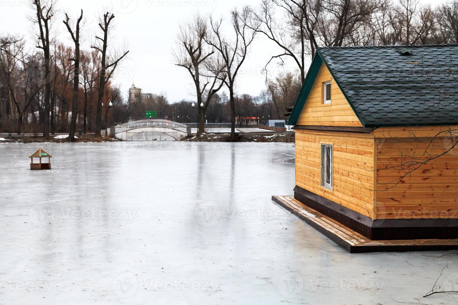
M 319 48 L 294 198 L 371 240 L 458 238 L 458 44 Z

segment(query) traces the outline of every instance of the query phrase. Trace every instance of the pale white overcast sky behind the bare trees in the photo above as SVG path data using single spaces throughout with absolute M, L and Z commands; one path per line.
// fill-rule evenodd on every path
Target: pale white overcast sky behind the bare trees
M 193 99 L 195 92 L 191 79 L 184 68 L 174 66 L 172 49 L 180 23 L 191 19 L 199 12 L 224 17 L 229 23 L 229 11 L 243 5 L 256 6 L 261 0 L 58 0 L 53 32 L 57 40 L 71 45 L 65 32 L 64 12 L 71 17 L 84 11 L 84 47 L 89 49 L 94 31 L 98 30 L 97 18 L 107 8 L 115 14 L 112 45 L 122 48 L 127 45 L 129 57 L 118 68 L 114 83 L 119 84 L 124 95 L 135 82 L 142 92 L 165 94 L 170 102 Z M 0 0 L 0 34 L 14 33 L 32 41 L 33 24 L 29 16 L 33 13 L 31 0 Z M 438 1 L 423 0 L 423 3 Z M 442 1 L 441 1 L 442 2 Z M 237 81 L 237 93 L 258 95 L 265 87 L 262 69 L 278 48 L 259 36 L 249 50 L 249 55 Z M 283 69 L 293 70 L 289 62 L 283 67 L 270 65 L 270 73 Z

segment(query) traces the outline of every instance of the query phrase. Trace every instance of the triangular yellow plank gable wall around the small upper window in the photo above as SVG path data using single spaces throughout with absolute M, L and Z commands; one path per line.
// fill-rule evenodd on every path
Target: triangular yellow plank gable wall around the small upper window
M 322 83 L 331 81 L 331 104 L 323 103 Z M 325 64 L 322 64 L 304 103 L 297 125 L 363 127 Z

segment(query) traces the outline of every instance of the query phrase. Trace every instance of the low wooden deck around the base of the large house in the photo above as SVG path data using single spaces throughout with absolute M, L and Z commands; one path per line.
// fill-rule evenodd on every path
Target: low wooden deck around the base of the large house
M 306 223 L 343 246 L 350 253 L 378 251 L 434 251 L 458 249 L 458 239 L 372 241 L 294 199 L 294 196 L 272 196 L 273 201 L 303 219 Z

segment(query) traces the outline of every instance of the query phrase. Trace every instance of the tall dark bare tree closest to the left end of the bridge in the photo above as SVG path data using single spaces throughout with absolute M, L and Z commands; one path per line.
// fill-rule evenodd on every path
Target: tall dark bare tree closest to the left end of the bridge
M 103 32 L 103 37 L 95 36 L 97 43 L 93 45 L 91 48 L 96 49 L 101 54 L 101 62 L 100 62 L 100 79 L 98 81 L 98 100 L 97 100 L 97 112 L 95 116 L 95 135 L 100 136 L 101 129 L 102 129 L 102 102 L 104 100 L 104 92 L 105 92 L 105 85 L 107 81 L 111 78 L 118 66 L 119 62 L 129 53 L 129 51 L 122 52 L 123 54 L 114 54 L 112 59 L 109 59 L 107 56 L 107 48 L 108 48 L 108 33 L 110 30 L 110 23 L 114 18 L 114 14 L 110 14 L 106 12 L 102 18 L 100 18 L 100 22 L 98 26 Z M 107 73 L 108 71 L 108 73 Z

